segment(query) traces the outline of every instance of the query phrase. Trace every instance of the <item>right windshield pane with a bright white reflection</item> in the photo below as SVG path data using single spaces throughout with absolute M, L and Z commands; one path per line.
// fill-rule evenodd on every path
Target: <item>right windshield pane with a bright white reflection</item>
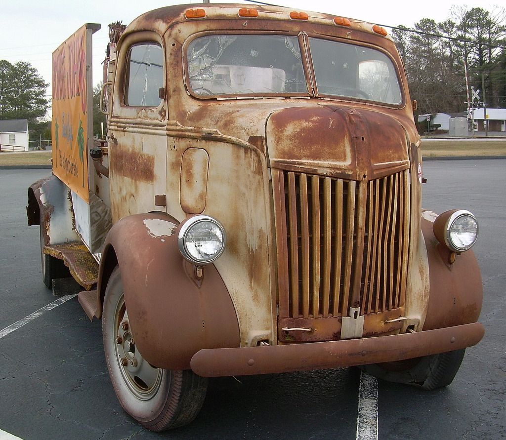
M 401 104 L 392 60 L 363 46 L 309 39 L 318 93 L 385 104 Z

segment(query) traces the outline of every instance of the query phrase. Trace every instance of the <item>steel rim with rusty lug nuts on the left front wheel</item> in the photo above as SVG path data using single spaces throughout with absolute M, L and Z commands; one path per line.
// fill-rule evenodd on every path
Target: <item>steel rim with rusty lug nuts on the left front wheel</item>
M 152 399 L 160 388 L 163 370 L 152 367 L 136 348 L 123 295 L 116 305 L 112 338 L 116 363 L 124 383 L 139 400 Z

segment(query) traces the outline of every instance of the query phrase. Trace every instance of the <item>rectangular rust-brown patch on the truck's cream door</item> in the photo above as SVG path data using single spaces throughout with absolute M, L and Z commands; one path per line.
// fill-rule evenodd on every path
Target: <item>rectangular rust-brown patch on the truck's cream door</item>
M 154 182 L 155 158 L 135 150 L 114 149 L 111 169 L 114 174 L 145 183 Z

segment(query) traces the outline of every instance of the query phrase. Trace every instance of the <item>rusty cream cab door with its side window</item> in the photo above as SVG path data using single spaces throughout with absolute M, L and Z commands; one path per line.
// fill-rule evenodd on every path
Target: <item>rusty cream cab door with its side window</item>
M 165 194 L 167 155 L 163 41 L 153 32 L 135 32 L 119 46 L 108 136 L 113 223 L 165 210 L 155 196 Z

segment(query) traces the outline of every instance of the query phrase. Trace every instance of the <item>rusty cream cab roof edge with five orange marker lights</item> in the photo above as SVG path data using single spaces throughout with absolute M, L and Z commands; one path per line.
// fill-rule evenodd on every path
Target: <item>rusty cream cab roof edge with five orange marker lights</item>
M 163 35 L 166 30 L 181 22 L 200 20 L 279 20 L 318 25 L 340 26 L 350 30 L 359 30 L 370 34 L 387 36 L 387 31 L 378 25 L 362 20 L 301 11 L 281 6 L 244 5 L 244 4 L 205 4 L 175 5 L 155 9 L 137 17 L 127 27 L 123 35 L 135 31 L 150 30 Z M 387 37 L 390 39 L 390 37 Z

